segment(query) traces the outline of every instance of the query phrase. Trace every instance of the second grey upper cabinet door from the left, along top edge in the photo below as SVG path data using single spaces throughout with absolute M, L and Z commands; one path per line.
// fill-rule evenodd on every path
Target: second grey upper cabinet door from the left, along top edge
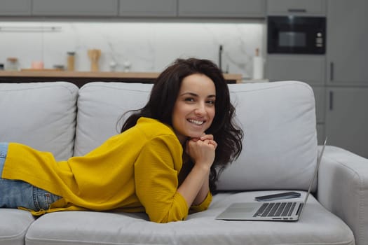
M 33 0 L 32 14 L 41 16 L 117 16 L 118 0 Z

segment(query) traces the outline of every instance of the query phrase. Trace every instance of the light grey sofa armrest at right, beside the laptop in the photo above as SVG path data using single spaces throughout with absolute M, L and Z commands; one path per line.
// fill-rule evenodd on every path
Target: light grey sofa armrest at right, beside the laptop
M 326 209 L 353 230 L 357 245 L 368 244 L 368 159 L 326 146 L 317 196 Z

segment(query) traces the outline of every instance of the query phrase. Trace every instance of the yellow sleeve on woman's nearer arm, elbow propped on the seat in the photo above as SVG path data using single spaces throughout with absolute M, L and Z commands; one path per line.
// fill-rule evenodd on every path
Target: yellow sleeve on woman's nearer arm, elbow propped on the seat
M 145 144 L 135 162 L 135 191 L 151 221 L 182 221 L 189 207 L 177 193 L 182 146 L 173 135 L 155 137 Z

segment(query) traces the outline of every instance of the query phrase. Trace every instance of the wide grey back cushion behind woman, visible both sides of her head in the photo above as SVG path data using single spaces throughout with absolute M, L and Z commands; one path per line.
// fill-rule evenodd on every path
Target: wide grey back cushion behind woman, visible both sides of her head
M 88 83 L 79 91 L 75 155 L 118 134 L 131 109 L 146 103 L 149 84 Z M 306 83 L 229 85 L 243 151 L 220 176 L 219 190 L 306 190 L 317 155 L 315 102 Z M 126 117 L 125 117 L 126 118 Z M 124 118 L 123 118 L 124 119 Z

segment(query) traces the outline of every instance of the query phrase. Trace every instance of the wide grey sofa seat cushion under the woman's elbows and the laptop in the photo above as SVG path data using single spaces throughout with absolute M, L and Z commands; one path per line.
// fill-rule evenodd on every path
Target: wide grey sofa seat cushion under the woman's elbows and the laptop
M 191 214 L 186 221 L 165 224 L 147 221 L 145 214 L 46 214 L 29 228 L 26 244 L 354 244 L 348 226 L 313 196 L 297 222 L 214 219 L 233 202 L 250 201 L 269 193 L 272 192 L 219 193 L 207 211 Z M 302 192 L 301 198 L 304 195 Z

